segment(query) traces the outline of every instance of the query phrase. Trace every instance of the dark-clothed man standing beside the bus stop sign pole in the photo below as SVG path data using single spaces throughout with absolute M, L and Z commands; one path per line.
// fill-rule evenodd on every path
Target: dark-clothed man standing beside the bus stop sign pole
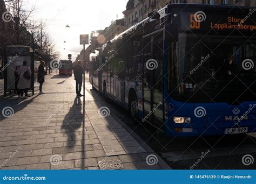
M 84 96 L 81 94 L 82 84 L 83 84 L 83 75 L 84 75 L 84 68 L 81 66 L 81 64 L 82 64 L 82 61 L 79 60 L 77 62 L 77 66 L 74 68 L 77 97 Z

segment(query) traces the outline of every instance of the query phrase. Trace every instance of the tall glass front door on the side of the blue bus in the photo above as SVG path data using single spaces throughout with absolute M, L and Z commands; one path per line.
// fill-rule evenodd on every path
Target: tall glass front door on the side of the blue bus
M 163 31 L 143 38 L 144 117 L 154 124 L 164 124 L 164 42 Z

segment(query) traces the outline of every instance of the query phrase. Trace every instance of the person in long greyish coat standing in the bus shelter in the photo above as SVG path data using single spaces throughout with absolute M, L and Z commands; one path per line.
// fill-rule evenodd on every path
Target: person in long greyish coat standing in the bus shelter
M 23 61 L 23 66 L 19 68 L 19 82 L 18 82 L 18 96 L 19 98 L 23 97 L 23 91 L 25 93 L 25 97 L 29 98 L 28 90 L 30 89 L 31 84 L 31 69 L 27 66 L 27 62 Z

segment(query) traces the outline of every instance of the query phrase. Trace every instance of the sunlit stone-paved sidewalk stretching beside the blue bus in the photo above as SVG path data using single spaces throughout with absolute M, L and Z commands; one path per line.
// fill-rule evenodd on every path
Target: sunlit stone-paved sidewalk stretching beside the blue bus
M 0 169 L 168 168 L 118 117 L 104 114 L 89 82 L 86 88 L 85 115 L 73 77 L 55 72 L 44 95 L 0 96 Z

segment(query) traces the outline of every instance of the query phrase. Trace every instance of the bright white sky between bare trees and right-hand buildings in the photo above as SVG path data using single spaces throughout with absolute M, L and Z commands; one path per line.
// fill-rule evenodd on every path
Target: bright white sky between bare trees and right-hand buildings
M 28 0 L 28 9 L 36 5 L 35 19 L 45 20 L 46 29 L 57 45 L 59 59 L 72 60 L 83 49 L 80 34 L 104 30 L 112 20 L 123 18 L 127 0 Z M 70 28 L 66 28 L 66 25 Z M 66 41 L 66 43 L 64 43 Z M 65 49 L 64 49 L 65 48 Z

